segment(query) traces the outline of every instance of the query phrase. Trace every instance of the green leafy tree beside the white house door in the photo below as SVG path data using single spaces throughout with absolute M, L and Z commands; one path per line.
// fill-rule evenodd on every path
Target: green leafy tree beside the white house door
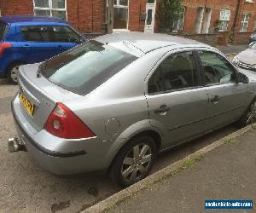
M 183 0 L 160 0 L 157 14 L 160 31 L 172 32 L 183 16 L 183 9 Z

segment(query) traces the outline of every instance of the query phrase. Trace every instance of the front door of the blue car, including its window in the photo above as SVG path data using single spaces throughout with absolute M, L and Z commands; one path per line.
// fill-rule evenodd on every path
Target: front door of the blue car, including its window
M 52 42 L 58 47 L 58 54 L 81 43 L 82 38 L 69 26 L 50 26 Z

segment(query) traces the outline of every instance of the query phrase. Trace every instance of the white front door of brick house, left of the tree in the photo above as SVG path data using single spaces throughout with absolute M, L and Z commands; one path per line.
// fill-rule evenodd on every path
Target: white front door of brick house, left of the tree
M 146 6 L 147 19 L 145 20 L 145 33 L 154 33 L 155 0 L 148 0 Z

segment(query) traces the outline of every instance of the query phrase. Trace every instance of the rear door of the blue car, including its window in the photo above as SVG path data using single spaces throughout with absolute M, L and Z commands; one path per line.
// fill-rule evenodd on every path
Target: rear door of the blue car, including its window
M 26 53 L 27 63 L 37 63 L 57 54 L 54 43 L 50 42 L 48 26 L 20 26 L 24 39 L 19 43 L 20 53 Z

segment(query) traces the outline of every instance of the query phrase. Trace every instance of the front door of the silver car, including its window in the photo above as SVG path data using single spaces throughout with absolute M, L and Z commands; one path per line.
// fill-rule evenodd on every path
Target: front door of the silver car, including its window
M 224 56 L 209 50 L 198 50 L 197 54 L 209 95 L 206 130 L 241 118 L 251 95 L 247 84 L 237 83 L 236 68 Z

